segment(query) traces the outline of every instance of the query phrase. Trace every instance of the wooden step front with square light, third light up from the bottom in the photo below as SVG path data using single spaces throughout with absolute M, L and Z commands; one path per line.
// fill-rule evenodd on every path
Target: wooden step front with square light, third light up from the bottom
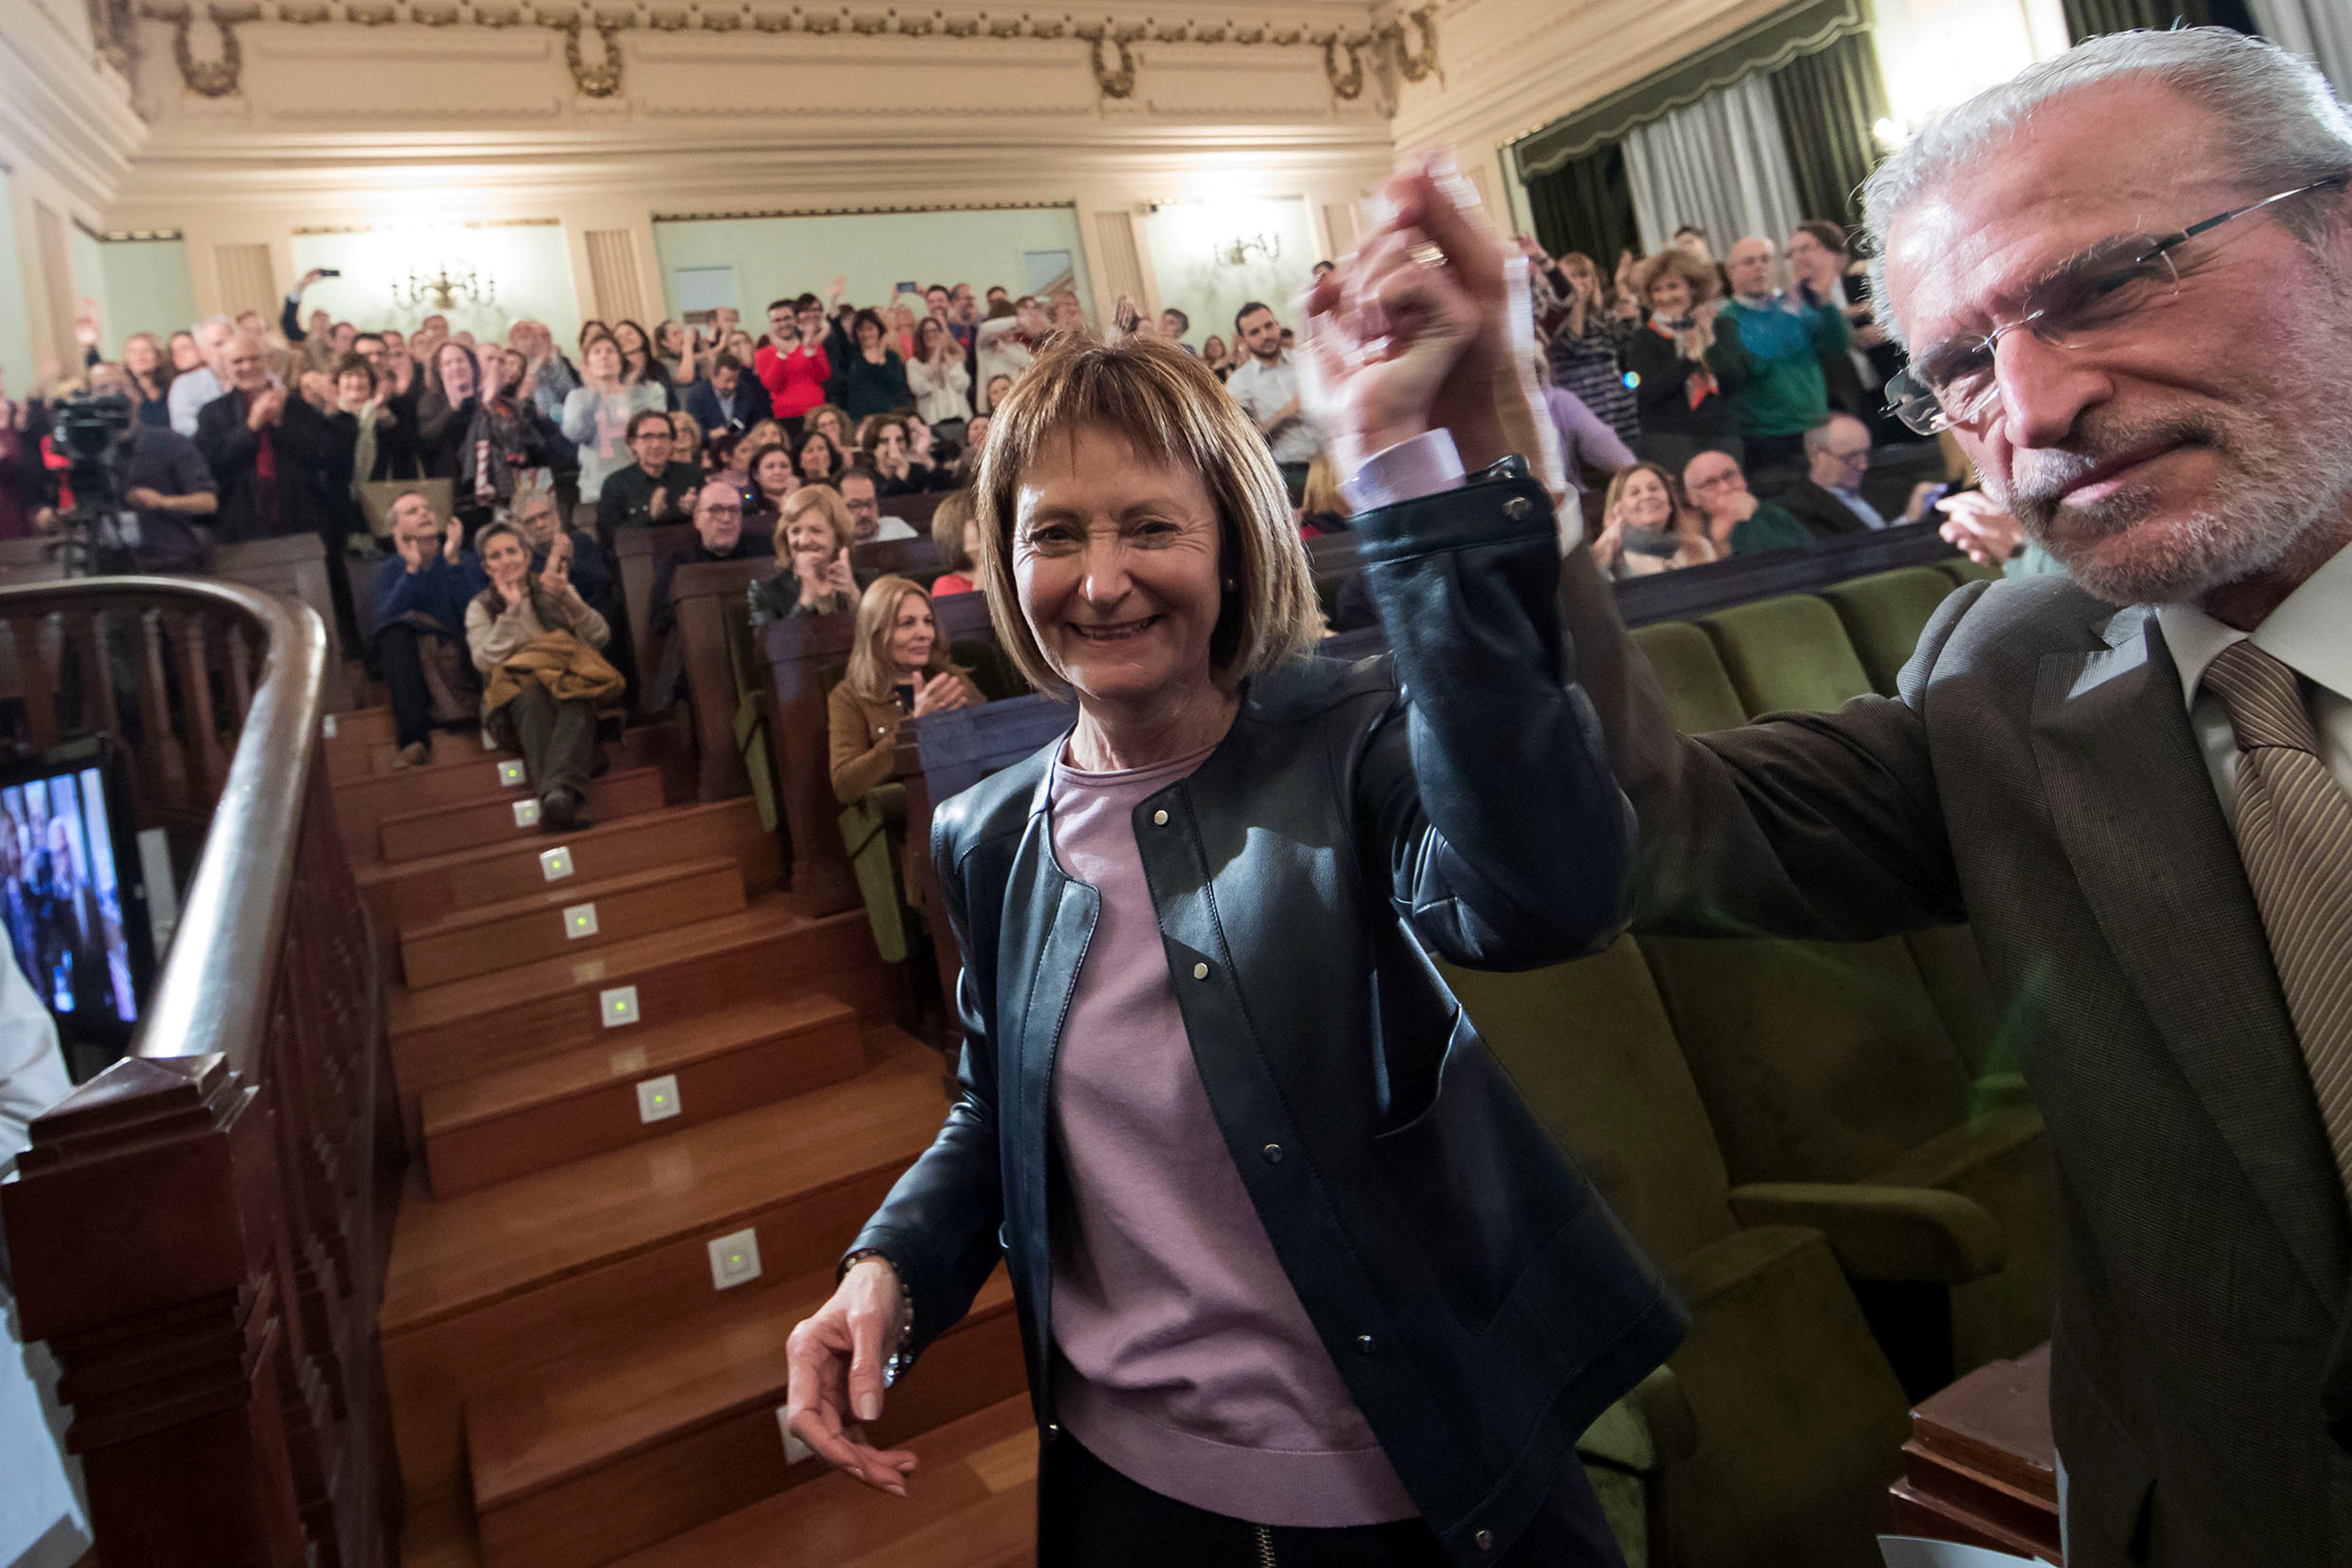
M 433 1197 L 677 1133 L 866 1070 L 858 1016 L 833 997 L 753 1001 L 626 1039 L 428 1093 L 421 1114 Z M 661 1077 L 675 1077 L 675 1112 L 647 1121 L 637 1086 Z

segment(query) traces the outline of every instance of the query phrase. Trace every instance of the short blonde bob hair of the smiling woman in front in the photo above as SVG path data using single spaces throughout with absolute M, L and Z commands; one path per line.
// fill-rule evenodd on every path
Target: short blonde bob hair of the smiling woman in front
M 1218 576 L 1230 583 L 1209 635 L 1209 668 L 1235 686 L 1308 649 L 1322 635 L 1315 574 L 1308 567 L 1282 473 L 1265 437 L 1176 343 L 1101 343 L 1065 334 L 1030 364 L 993 409 L 988 449 L 974 482 L 981 517 L 978 576 L 997 642 L 1030 686 L 1068 696 L 1047 663 L 1014 583 L 1014 527 L 1021 477 L 1054 442 L 1101 428 L 1143 463 L 1190 468 L 1216 505 Z

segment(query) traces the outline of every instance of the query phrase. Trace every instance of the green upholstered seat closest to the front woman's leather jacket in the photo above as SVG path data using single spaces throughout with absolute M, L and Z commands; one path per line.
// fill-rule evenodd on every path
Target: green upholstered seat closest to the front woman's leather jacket
M 1860 1190 L 1738 1192 L 1630 940 L 1534 973 L 1446 969 L 1522 1098 L 1672 1281 L 1691 1328 L 1578 1443 L 1621 1540 L 1646 1493 L 1644 1556 L 1679 1568 L 1879 1561 L 1875 1528 L 1905 1439 L 1903 1389 L 1846 1281 L 1839 1232 Z M 1992 1222 L 1940 1192 L 1875 1194 L 1938 1241 Z M 1757 1204 L 1816 1222 L 1743 1222 Z M 1867 1199 L 1865 1199 L 1867 1201 Z M 1950 1232 L 1938 1225 L 1950 1220 Z M 1825 1234 L 1828 1232 L 1828 1234 Z M 1844 1267 L 1842 1267 L 1844 1262 Z

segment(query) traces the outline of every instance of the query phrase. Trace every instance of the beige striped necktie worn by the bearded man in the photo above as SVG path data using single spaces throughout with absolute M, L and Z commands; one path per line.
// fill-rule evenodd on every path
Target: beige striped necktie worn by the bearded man
M 2352 1187 L 2352 795 L 2319 755 L 2296 672 L 2237 642 L 2206 668 L 2237 736 L 2237 849 L 2286 1011 Z

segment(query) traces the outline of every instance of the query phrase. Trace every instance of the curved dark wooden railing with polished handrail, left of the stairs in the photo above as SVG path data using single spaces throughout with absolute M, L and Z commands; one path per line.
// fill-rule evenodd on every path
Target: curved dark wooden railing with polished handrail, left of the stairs
M 0 1187 L 99 1554 L 379 1568 L 397 1537 L 376 1300 L 400 1138 L 318 759 L 329 632 L 200 578 L 0 588 L 0 623 L 31 743 L 127 708 L 136 820 L 209 813 L 132 1053 L 33 1121 Z

